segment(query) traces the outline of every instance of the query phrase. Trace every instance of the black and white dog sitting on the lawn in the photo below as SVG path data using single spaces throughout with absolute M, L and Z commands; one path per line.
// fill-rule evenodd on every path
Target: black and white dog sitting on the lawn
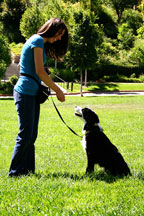
M 89 108 L 76 106 L 75 116 L 84 120 L 82 145 L 87 155 L 86 173 L 93 172 L 94 165 L 99 164 L 114 176 L 130 174 L 122 155 L 103 133 L 97 114 Z

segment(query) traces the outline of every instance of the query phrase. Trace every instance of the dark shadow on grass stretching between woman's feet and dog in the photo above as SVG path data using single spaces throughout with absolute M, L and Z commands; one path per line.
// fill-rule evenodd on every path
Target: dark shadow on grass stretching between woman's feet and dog
M 94 172 L 91 174 L 84 174 L 84 175 L 77 175 L 77 174 L 70 174 L 68 172 L 57 172 L 57 173 L 36 173 L 35 176 L 37 178 L 65 178 L 65 179 L 72 179 L 74 181 L 84 180 L 87 179 L 88 181 L 105 181 L 107 183 L 113 183 L 119 179 L 122 179 L 124 176 L 112 176 L 104 171 Z

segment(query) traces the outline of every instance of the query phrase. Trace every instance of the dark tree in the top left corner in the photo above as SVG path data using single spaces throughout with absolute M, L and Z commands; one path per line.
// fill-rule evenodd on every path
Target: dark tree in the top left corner
M 29 0 L 4 0 L 1 3 L 0 21 L 3 23 L 3 33 L 7 35 L 10 42 L 24 41 L 19 24 L 22 14 L 29 4 Z

